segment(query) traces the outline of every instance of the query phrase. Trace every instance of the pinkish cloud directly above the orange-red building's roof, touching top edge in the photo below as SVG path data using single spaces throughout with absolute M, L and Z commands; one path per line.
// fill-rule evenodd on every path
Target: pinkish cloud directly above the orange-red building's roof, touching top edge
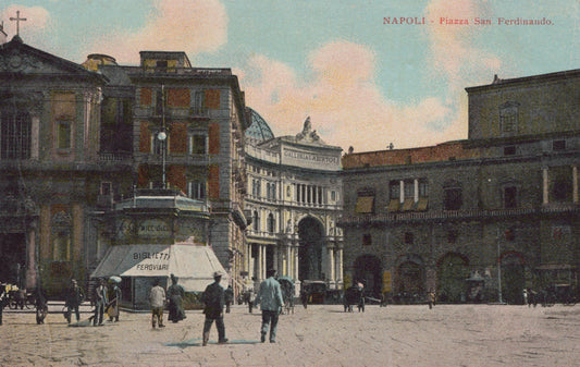
M 86 53 L 107 53 L 121 63 L 138 63 L 139 51 L 212 52 L 227 41 L 227 14 L 219 0 L 158 0 L 145 25 L 88 39 Z

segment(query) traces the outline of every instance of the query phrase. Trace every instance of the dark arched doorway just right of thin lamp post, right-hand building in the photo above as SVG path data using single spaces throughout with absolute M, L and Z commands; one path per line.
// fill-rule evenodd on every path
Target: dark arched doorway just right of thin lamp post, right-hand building
M 502 255 L 502 298 L 511 305 L 523 303 L 523 286 L 526 285 L 525 261 L 519 253 Z

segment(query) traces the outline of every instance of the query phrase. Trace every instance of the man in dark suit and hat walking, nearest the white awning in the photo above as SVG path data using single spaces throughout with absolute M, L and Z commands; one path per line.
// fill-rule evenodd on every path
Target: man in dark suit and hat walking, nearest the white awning
M 201 302 L 205 304 L 203 314 L 206 314 L 206 322 L 203 322 L 203 346 L 208 345 L 209 331 L 213 320 L 215 320 L 215 327 L 218 328 L 218 343 L 224 344 L 227 342 L 227 339 L 225 339 L 225 326 L 223 323 L 225 290 L 220 285 L 222 276 L 220 271 L 215 271 L 213 273 L 214 282 L 209 284 L 201 295 Z

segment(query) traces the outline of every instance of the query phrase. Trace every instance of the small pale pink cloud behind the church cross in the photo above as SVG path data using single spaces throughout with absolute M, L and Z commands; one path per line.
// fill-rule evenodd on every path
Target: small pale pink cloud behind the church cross
M 8 39 L 12 39 L 16 35 L 16 22 L 10 21 L 11 17 L 16 17 L 16 11 L 20 11 L 20 17 L 26 21 L 20 22 L 20 35 L 23 39 L 35 39 L 42 42 L 46 41 L 46 30 L 50 26 L 50 14 L 48 10 L 41 7 L 24 7 L 10 5 L 0 11 L 0 20 L 4 21 L 4 33 L 8 34 Z M 33 26 L 34 25 L 34 26 Z

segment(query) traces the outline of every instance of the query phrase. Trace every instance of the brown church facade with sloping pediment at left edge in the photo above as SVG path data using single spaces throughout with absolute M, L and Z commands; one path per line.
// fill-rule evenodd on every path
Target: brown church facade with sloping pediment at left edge
M 0 45 L 0 281 L 52 295 L 86 278 L 106 83 L 20 36 Z

